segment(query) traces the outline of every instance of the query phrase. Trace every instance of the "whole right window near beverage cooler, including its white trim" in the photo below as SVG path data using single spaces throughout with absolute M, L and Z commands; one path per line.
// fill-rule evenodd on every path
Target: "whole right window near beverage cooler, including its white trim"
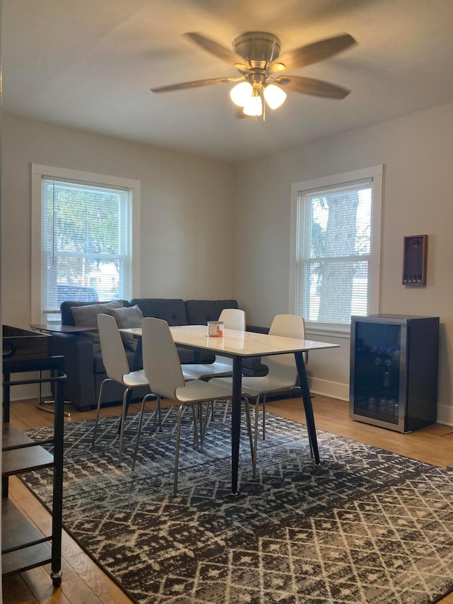
M 352 314 L 379 309 L 382 166 L 292 190 L 294 313 L 349 329 Z

